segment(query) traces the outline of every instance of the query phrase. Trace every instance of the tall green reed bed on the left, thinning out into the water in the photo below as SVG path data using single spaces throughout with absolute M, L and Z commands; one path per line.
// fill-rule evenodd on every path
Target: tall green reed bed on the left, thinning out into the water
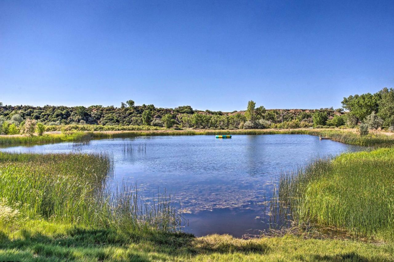
M 152 205 L 136 187 L 114 187 L 112 172 L 112 156 L 103 153 L 0 153 L 0 213 L 19 214 L 8 225 L 28 219 L 98 228 L 180 229 L 181 217 L 170 196 L 160 194 Z M 4 222 L 2 216 L 0 220 Z

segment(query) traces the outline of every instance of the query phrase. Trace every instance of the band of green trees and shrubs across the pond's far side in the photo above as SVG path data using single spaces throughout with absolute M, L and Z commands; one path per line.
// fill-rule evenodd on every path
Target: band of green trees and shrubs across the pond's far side
M 120 107 L 3 105 L 0 103 L 0 133 L 16 134 L 24 130 L 26 120 L 54 125 L 152 125 L 211 129 L 265 129 L 298 127 L 355 127 L 361 122 L 368 129 L 394 129 L 394 90 L 384 88 L 375 94 L 355 94 L 344 98 L 343 109 L 269 109 L 256 107 L 251 100 L 246 111 L 198 111 L 190 105 L 174 109 L 154 105 L 135 105 L 133 100 Z M 344 109 L 347 111 L 345 112 Z

